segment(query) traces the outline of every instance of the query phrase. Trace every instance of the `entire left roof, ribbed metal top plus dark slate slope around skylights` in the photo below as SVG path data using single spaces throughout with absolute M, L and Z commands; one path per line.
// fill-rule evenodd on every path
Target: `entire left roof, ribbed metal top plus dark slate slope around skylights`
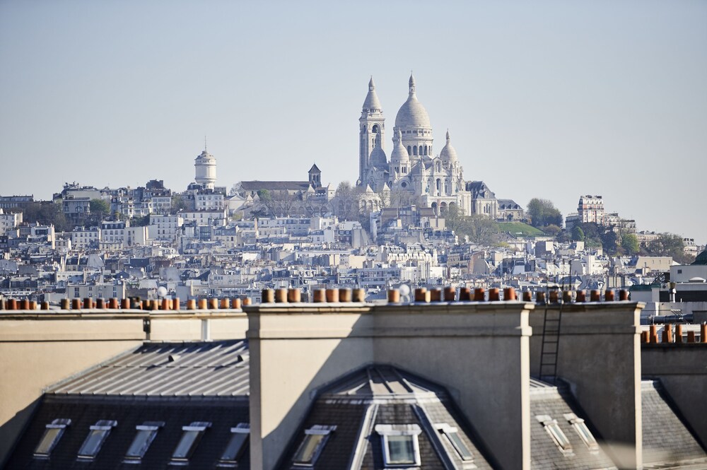
M 171 360 L 170 360 L 171 358 Z M 234 428 L 248 423 L 247 341 L 144 343 L 66 380 L 41 399 L 7 462 L 8 469 L 167 469 L 182 426 L 211 423 L 189 458 L 192 469 L 214 468 Z M 49 459 L 33 452 L 54 419 L 70 419 Z M 93 461 L 78 462 L 91 425 L 116 421 Z M 124 464 L 137 425 L 161 421 L 139 464 Z M 246 443 L 237 459 L 250 468 Z

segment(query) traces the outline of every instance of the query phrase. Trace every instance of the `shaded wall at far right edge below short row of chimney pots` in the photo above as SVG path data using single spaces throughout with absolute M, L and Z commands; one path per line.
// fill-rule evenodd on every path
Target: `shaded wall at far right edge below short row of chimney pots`
M 665 391 L 707 449 L 707 343 L 641 345 L 641 373 Z

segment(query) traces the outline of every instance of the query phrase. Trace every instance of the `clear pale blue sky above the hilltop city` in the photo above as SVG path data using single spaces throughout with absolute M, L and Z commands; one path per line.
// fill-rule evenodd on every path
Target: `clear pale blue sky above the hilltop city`
M 707 1 L 0 0 L 0 194 L 358 178 L 414 71 L 434 150 L 563 215 L 582 194 L 707 242 Z

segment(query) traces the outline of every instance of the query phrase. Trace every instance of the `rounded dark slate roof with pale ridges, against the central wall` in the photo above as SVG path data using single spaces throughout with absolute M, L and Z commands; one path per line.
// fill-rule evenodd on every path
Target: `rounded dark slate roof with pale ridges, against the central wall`
M 378 424 L 420 426 L 419 468 L 466 468 L 434 428 L 438 423 L 459 429 L 477 468 L 493 468 L 443 387 L 391 366 L 372 365 L 342 377 L 320 392 L 277 468 L 292 468 L 293 456 L 306 429 L 336 425 L 313 469 L 385 469 L 382 440 L 374 430 Z

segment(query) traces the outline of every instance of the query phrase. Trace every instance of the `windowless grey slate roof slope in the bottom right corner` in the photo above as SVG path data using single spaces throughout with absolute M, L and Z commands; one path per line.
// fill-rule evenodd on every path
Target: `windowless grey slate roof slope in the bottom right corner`
M 699 459 L 701 468 L 707 468 L 707 453 L 672 409 L 658 380 L 641 382 L 641 405 L 645 464 L 692 464 Z

